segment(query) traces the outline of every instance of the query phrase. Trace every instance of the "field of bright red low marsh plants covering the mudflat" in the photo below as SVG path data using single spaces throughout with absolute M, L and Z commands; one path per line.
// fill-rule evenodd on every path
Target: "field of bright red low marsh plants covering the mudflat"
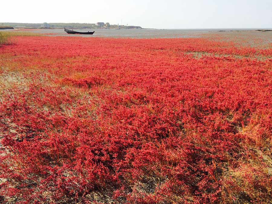
M 272 45 L 15 37 L 0 202 L 272 203 Z

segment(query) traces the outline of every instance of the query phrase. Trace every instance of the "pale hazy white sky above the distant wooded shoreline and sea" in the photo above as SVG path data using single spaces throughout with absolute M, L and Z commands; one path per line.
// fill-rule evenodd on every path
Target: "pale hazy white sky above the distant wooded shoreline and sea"
M 272 28 L 272 0 L 9 0 L 0 22 L 79 22 L 144 28 Z

